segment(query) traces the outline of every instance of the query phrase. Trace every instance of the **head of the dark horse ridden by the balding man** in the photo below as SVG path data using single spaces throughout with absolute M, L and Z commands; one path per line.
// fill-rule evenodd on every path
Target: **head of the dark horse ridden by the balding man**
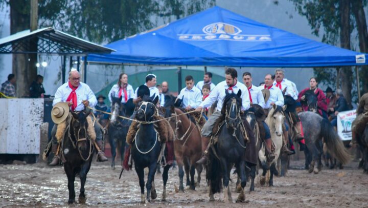
M 86 109 L 85 112 L 71 112 L 73 115 L 73 119 L 71 122 L 71 129 L 73 131 L 73 135 L 78 144 L 78 148 L 81 150 L 85 150 L 87 148 L 86 139 L 87 139 L 87 129 L 88 129 L 88 122 L 87 116 L 90 114 L 91 110 Z

